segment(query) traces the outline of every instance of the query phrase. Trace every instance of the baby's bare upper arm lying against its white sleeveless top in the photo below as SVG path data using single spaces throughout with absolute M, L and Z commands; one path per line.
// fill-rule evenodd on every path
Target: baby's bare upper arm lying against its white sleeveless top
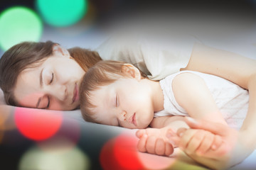
M 193 73 L 178 74 L 170 86 L 178 105 L 192 118 L 228 125 L 201 77 Z

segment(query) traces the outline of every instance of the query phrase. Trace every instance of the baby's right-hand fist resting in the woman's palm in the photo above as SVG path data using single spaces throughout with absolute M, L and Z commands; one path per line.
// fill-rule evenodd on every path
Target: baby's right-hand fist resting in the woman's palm
M 201 156 L 210 149 L 213 151 L 218 149 L 222 144 L 222 138 L 219 135 L 207 130 L 181 128 L 177 131 L 177 134 L 180 137 L 179 141 L 174 132 L 169 139 L 178 143 L 178 146 L 188 155 L 197 154 Z

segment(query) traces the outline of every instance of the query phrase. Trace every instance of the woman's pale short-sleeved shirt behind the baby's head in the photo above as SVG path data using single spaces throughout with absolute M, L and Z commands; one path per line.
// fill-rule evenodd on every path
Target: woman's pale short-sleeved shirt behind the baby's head
M 160 80 L 179 72 L 190 60 L 193 45 L 200 43 L 191 35 L 114 36 L 95 49 L 102 60 L 134 64 L 149 79 Z

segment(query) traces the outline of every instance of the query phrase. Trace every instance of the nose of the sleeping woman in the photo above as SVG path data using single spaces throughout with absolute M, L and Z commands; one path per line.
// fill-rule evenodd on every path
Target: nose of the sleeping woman
M 67 86 L 65 85 L 54 84 L 52 86 L 48 86 L 48 88 L 49 94 L 55 98 L 58 98 L 60 101 L 65 101 L 65 99 L 68 97 Z

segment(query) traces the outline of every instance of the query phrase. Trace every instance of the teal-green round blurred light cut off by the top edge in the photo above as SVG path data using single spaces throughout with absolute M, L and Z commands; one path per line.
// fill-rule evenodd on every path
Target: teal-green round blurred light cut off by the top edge
M 37 0 L 36 7 L 50 26 L 72 26 L 87 12 L 86 0 Z

